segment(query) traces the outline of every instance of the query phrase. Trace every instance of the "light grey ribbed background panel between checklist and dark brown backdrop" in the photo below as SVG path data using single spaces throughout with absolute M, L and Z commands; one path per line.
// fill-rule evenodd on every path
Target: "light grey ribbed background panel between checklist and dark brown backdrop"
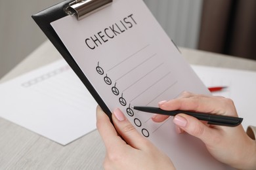
M 178 46 L 197 48 L 203 0 L 144 0 Z

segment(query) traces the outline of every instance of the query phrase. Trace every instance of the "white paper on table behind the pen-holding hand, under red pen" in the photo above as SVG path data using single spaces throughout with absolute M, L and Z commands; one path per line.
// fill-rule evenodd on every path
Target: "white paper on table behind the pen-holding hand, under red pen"
M 222 95 L 234 101 L 238 116 L 244 118 L 242 125 L 256 125 L 256 72 L 193 65 L 194 71 L 205 86 L 226 86 L 213 95 Z

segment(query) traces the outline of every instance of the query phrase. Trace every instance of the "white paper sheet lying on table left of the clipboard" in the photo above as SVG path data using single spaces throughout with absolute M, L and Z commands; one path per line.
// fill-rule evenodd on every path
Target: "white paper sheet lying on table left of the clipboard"
M 0 84 L 0 116 L 57 143 L 96 129 L 96 102 L 61 59 Z

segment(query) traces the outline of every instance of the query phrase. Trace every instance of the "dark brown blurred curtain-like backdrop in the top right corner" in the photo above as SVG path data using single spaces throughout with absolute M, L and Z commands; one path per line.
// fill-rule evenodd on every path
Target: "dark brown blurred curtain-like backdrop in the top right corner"
M 256 1 L 204 0 L 198 48 L 256 60 Z

